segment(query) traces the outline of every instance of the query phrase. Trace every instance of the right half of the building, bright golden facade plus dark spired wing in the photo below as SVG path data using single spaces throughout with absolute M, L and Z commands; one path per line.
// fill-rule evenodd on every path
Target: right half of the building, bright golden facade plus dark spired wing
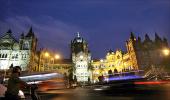
M 109 71 L 114 73 L 122 73 L 128 71 L 148 71 L 151 66 L 162 66 L 163 55 L 162 50 L 168 47 L 166 38 L 161 39 L 155 33 L 155 40 L 151 40 L 146 34 L 144 41 L 141 38 L 136 38 L 131 33 L 130 38 L 126 41 L 127 52 L 121 50 L 113 52 L 110 50 L 105 59 L 93 60 L 93 80 L 98 81 L 99 76 L 108 78 Z

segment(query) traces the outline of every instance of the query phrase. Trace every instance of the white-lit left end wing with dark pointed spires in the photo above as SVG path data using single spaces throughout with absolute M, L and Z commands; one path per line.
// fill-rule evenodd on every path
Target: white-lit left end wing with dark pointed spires
M 0 70 L 8 69 L 10 66 L 21 66 L 23 71 L 32 70 L 36 53 L 37 39 L 30 28 L 26 36 L 21 34 L 17 41 L 12 31 L 8 30 L 0 38 Z

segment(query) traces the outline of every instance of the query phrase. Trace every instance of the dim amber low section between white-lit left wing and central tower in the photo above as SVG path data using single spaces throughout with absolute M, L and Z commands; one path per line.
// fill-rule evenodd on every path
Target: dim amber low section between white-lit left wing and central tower
M 46 55 L 48 53 L 48 55 Z M 70 67 L 72 66 L 71 59 L 55 58 L 55 53 L 48 49 L 41 49 L 38 52 L 39 62 L 37 71 L 48 72 L 53 71 L 60 74 L 69 75 Z

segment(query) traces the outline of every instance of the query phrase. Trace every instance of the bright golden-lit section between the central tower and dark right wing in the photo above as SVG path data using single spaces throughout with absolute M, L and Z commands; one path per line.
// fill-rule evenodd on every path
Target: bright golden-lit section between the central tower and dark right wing
M 107 79 L 109 71 L 114 74 L 134 70 L 129 55 L 121 50 L 117 50 L 116 52 L 110 50 L 106 54 L 105 59 L 92 60 L 91 64 L 93 66 L 92 77 L 94 82 L 98 81 L 99 76 L 104 76 Z

